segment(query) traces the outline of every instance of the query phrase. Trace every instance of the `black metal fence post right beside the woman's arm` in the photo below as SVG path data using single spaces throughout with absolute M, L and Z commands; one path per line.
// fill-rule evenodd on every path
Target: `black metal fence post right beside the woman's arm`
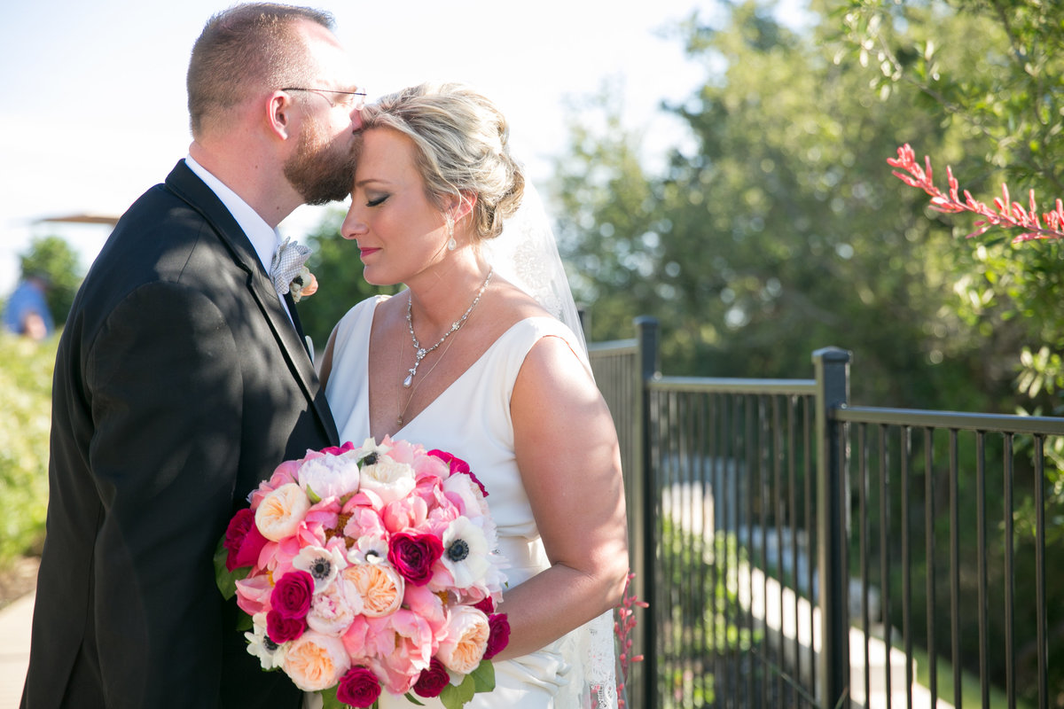
M 654 621 L 658 615 L 655 600 L 655 550 L 654 540 L 654 509 L 659 493 L 654 486 L 653 468 L 651 467 L 651 431 L 650 420 L 650 395 L 647 384 L 660 376 L 661 365 L 658 347 L 658 320 L 649 316 L 635 318 L 635 337 L 638 343 L 638 375 L 639 382 L 636 387 L 636 415 L 635 431 L 636 448 L 635 465 L 637 470 L 632 479 L 642 482 L 638 509 L 629 510 L 636 516 L 634 529 L 639 530 L 639 539 L 631 540 L 634 544 L 633 564 L 637 570 L 635 577 L 635 588 L 641 601 L 649 604 L 644 611 L 643 623 L 637 627 L 643 628 L 643 707 L 652 709 L 658 706 L 658 632 Z

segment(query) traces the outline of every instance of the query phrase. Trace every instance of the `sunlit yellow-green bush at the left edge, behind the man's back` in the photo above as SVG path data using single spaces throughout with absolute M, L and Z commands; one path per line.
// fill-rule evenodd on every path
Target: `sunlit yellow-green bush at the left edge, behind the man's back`
M 48 435 L 59 336 L 0 333 L 0 568 L 39 554 L 48 508 Z

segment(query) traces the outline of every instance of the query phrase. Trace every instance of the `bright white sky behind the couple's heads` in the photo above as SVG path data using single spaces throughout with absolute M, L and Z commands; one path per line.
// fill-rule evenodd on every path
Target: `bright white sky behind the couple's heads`
M 71 214 L 120 215 L 187 154 L 188 53 L 229 0 L 35 0 L 11 3 L 0 23 L 0 298 L 17 283 L 18 255 L 57 234 L 87 268 L 107 227 L 41 223 Z M 714 0 L 306 0 L 330 11 L 369 100 L 422 81 L 460 81 L 495 100 L 535 183 L 565 152 L 568 102 L 610 83 L 626 126 L 645 150 L 682 140 L 660 111 L 704 82 L 676 26 Z M 784 3 L 788 4 L 788 3 Z M 794 4 L 793 2 L 789 4 Z M 296 238 L 320 208 L 300 207 L 281 230 Z

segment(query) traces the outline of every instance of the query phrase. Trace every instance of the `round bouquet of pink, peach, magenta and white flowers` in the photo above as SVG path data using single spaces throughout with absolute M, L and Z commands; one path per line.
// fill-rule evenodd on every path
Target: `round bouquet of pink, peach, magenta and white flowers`
M 510 625 L 486 494 L 463 460 L 389 438 L 282 462 L 215 557 L 248 652 L 327 709 L 491 691 Z

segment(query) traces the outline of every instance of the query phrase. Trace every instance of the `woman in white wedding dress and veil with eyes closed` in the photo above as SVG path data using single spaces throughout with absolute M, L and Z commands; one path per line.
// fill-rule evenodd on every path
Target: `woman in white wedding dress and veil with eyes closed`
M 617 434 L 579 328 L 561 320 L 576 324 L 576 309 L 546 218 L 519 223 L 535 205 L 521 206 L 505 120 L 446 84 L 384 97 L 362 122 L 343 235 L 367 282 L 408 289 L 359 303 L 330 337 L 321 374 L 340 439 L 450 451 L 487 489 L 511 636 L 496 690 L 470 708 L 615 707 L 611 610 L 628 572 Z

